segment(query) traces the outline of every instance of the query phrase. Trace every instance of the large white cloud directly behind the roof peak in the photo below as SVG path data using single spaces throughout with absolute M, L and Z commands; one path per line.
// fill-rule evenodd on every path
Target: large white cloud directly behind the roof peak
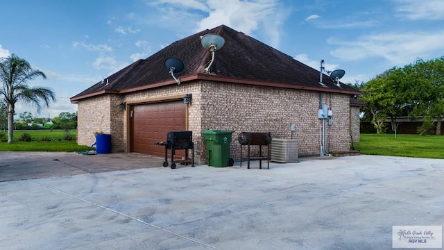
M 289 15 L 289 8 L 279 0 L 158 0 L 150 4 L 162 12 L 164 23 L 195 22 L 196 32 L 221 24 L 252 36 L 260 30 L 275 48 L 279 46 L 282 21 Z

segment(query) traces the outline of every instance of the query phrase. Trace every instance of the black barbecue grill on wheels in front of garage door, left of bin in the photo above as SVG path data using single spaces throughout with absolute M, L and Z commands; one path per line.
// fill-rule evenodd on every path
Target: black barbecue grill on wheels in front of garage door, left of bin
M 168 149 L 171 149 L 171 168 L 176 168 L 176 163 L 194 167 L 194 143 L 193 131 L 171 131 L 167 133 L 167 142 L 157 142 L 156 145 L 165 147 L 165 161 L 163 166 L 168 167 Z M 185 149 L 185 160 L 174 160 L 176 150 Z M 191 149 L 191 160 L 188 158 L 188 149 Z

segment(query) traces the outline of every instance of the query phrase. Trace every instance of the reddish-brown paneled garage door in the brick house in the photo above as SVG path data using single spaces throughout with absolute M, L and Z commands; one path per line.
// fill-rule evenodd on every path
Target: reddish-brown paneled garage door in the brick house
M 169 131 L 186 130 L 186 108 L 183 101 L 131 106 L 130 151 L 164 156 L 165 148 L 155 146 L 155 142 L 165 141 Z

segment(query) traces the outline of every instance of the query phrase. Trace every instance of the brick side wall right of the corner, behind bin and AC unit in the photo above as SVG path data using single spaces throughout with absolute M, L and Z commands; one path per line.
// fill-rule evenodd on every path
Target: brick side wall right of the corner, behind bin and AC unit
M 202 131 L 234 131 L 232 158 L 240 157 L 239 133 L 271 132 L 272 138 L 291 138 L 291 124 L 296 124 L 293 138 L 299 139 L 299 156 L 320 153 L 322 123 L 318 119 L 318 92 L 206 82 L 202 85 L 201 103 Z M 348 150 L 349 96 L 323 93 L 323 104 L 333 111 L 332 126 L 327 126 L 327 122 L 325 126 L 327 151 Z M 246 156 L 246 147 L 243 150 Z M 258 147 L 253 153 L 258 153 Z

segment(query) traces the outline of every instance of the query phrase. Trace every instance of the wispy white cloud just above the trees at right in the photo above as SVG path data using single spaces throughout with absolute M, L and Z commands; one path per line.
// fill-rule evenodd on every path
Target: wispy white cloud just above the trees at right
M 332 56 L 355 61 L 367 58 L 384 58 L 395 65 L 413 63 L 417 58 L 442 56 L 444 30 L 435 32 L 381 33 L 365 35 L 353 41 L 336 38 L 327 40 L 339 47 L 330 51 Z

